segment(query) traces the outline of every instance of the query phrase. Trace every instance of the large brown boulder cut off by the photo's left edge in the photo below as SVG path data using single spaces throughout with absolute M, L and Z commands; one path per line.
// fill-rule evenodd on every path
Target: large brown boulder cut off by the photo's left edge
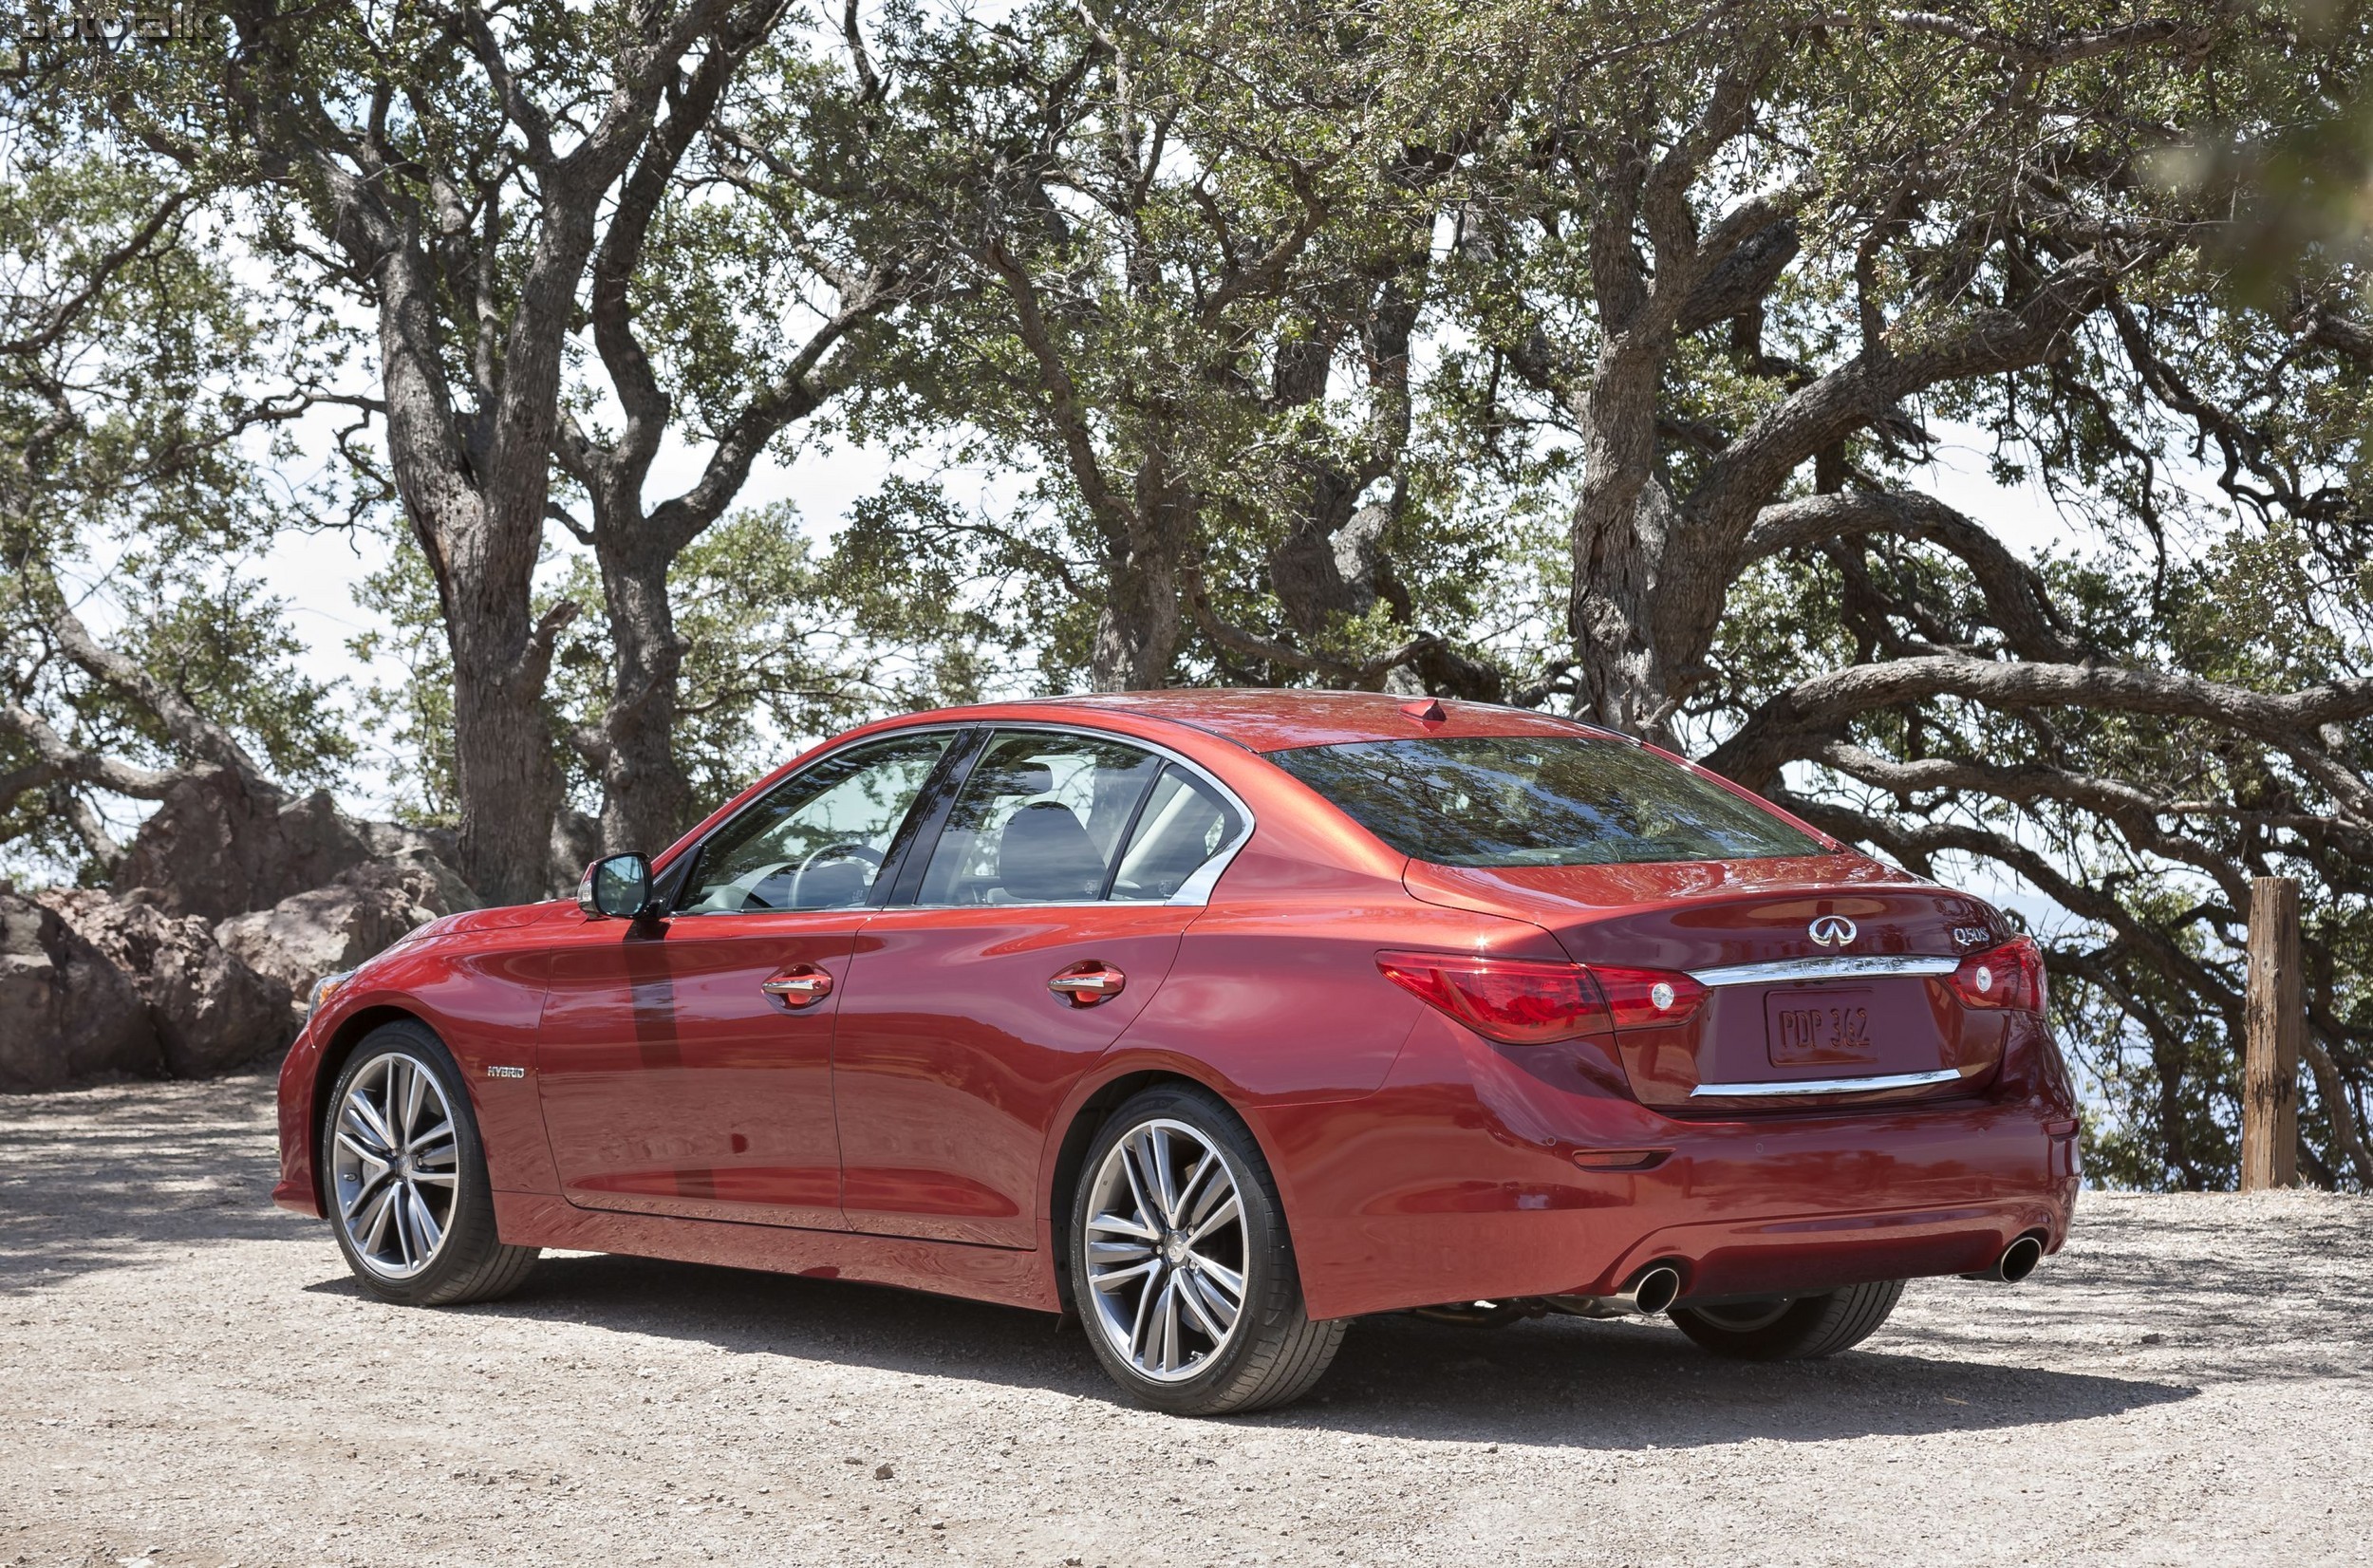
M 159 1065 L 157 1027 L 131 977 L 55 909 L 0 890 L 0 1089 Z

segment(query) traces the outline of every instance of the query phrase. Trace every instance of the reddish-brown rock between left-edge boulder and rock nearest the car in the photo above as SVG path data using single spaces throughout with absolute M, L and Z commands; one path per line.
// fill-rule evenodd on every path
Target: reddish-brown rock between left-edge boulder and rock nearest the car
M 225 951 L 199 916 L 168 916 L 95 890 L 38 899 L 131 977 L 168 1075 L 206 1077 L 294 1039 L 287 982 Z

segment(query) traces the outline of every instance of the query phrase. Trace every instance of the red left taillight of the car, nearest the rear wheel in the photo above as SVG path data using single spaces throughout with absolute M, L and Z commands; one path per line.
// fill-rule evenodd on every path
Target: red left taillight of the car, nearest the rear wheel
M 1706 987 L 1678 970 L 1583 968 L 1540 958 L 1379 954 L 1376 968 L 1405 992 L 1504 1046 L 1607 1034 L 1690 1018 Z

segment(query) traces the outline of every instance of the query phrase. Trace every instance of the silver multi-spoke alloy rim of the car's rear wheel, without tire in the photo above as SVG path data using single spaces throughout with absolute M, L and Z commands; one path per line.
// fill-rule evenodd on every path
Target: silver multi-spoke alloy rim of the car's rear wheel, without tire
M 1099 1333 L 1144 1378 L 1182 1383 L 1243 1317 L 1243 1196 L 1186 1122 L 1132 1127 L 1096 1167 L 1084 1269 Z

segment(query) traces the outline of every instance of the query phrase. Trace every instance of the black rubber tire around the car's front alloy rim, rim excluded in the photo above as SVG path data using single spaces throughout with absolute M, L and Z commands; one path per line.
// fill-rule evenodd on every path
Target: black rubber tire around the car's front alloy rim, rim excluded
M 453 1134 L 451 1160 L 439 1158 L 434 1174 L 422 1160 L 422 1184 L 444 1184 L 451 1165 L 451 1205 L 439 1226 L 439 1241 L 427 1248 L 427 1262 L 415 1271 L 394 1276 L 363 1250 L 344 1219 L 339 1174 L 339 1115 L 356 1082 L 389 1082 L 389 1075 L 425 1072 L 444 1094 L 444 1110 Z M 406 1079 L 408 1082 L 408 1079 Z M 368 1167 L 363 1167 L 368 1169 Z M 384 1181 L 382 1181 L 384 1184 Z M 444 1048 L 437 1032 L 415 1020 L 380 1025 L 363 1037 L 363 1044 L 346 1058 L 330 1091 L 320 1127 L 320 1191 L 323 1212 L 330 1215 L 330 1234 L 337 1250 L 346 1255 L 354 1279 L 384 1302 L 406 1307 L 458 1307 L 463 1302 L 486 1302 L 510 1295 L 527 1281 L 527 1271 L 543 1255 L 541 1248 L 503 1245 L 494 1229 L 494 1191 L 486 1181 L 486 1146 L 477 1134 L 477 1115 L 470 1108 L 470 1091 L 463 1084 L 453 1053 Z M 361 1191 L 361 1184 L 358 1184 Z M 368 1198 L 368 1193 L 363 1193 Z M 368 1217 L 373 1205 L 358 1203 L 358 1217 Z M 401 1229 L 401 1226 L 399 1226 Z M 384 1231 L 382 1231 L 384 1234 Z

